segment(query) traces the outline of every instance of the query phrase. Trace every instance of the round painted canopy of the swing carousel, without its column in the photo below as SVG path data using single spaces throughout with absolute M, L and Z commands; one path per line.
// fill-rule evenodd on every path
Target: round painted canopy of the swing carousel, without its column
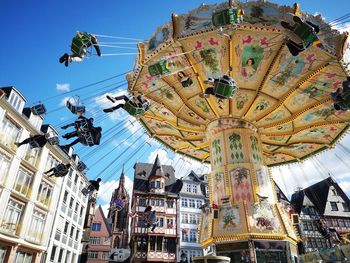
M 213 25 L 228 3 L 201 5 L 158 28 L 139 43 L 127 76 L 129 91 L 151 101 L 138 116 L 149 134 L 175 152 L 210 161 L 207 126 L 231 117 L 251 123 L 268 166 L 300 161 L 328 149 L 349 128 L 350 111 L 336 110 L 330 94 L 342 87 L 350 41 L 320 16 L 271 3 L 239 3 L 243 21 Z M 319 45 L 293 55 L 291 32 L 281 21 L 293 14 L 316 24 Z M 295 18 L 294 18 L 295 19 Z M 205 80 L 227 75 L 238 87 L 231 99 L 202 96 Z

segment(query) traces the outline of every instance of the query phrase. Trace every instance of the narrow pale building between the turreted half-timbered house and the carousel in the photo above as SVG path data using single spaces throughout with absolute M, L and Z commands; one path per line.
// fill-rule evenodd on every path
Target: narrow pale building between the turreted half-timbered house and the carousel
M 180 248 L 178 258 L 182 253 L 187 256 L 187 262 L 191 257 L 203 255 L 203 250 L 198 243 L 198 225 L 200 223 L 200 207 L 209 202 L 207 175 L 199 177 L 195 172 L 182 179 L 183 185 L 180 191 Z

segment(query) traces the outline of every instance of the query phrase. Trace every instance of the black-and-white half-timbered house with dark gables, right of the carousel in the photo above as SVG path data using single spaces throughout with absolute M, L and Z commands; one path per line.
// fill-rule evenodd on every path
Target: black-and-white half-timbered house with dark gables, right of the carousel
M 303 253 L 338 245 L 337 236 L 350 232 L 350 200 L 331 177 L 295 192 L 291 203 L 299 214 Z

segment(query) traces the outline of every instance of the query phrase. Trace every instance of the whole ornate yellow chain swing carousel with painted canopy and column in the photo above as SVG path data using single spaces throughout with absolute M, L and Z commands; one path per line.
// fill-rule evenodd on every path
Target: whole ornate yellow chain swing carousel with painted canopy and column
M 298 5 L 230 1 L 173 14 L 138 48 L 129 92 L 151 107 L 136 118 L 212 167 L 199 241 L 213 253 L 193 260 L 294 262 L 298 236 L 268 167 L 326 150 L 348 130 L 347 35 Z

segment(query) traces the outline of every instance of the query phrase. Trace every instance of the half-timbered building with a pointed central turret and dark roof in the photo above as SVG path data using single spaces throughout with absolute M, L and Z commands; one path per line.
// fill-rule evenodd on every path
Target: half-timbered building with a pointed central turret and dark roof
M 131 220 L 131 262 L 178 262 L 178 194 L 182 181 L 175 178 L 172 166 L 161 165 L 157 156 L 154 164 L 134 166 Z M 147 206 L 156 211 L 158 227 L 146 228 L 142 213 Z

